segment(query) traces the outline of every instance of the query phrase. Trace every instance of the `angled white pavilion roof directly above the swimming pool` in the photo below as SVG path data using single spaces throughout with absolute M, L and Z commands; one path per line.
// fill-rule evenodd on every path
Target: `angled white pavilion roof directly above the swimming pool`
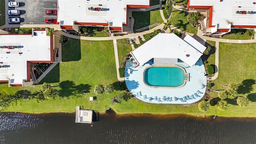
M 160 33 L 131 54 L 140 65 L 152 58 L 177 58 L 194 66 L 205 49 L 205 46 L 189 35 L 182 40 L 173 33 Z

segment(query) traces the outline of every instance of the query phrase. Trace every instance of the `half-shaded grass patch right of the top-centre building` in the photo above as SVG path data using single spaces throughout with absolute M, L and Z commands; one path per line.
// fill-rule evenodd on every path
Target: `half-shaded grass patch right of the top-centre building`
M 133 26 L 134 32 L 136 32 L 136 30 L 139 28 L 150 26 L 151 24 L 154 24 L 156 22 L 160 24 L 164 22 L 160 15 L 159 8 L 155 10 L 146 11 L 146 12 L 132 12 L 132 17 L 134 18 L 134 26 Z M 150 30 L 152 28 L 154 27 L 151 27 L 145 30 Z

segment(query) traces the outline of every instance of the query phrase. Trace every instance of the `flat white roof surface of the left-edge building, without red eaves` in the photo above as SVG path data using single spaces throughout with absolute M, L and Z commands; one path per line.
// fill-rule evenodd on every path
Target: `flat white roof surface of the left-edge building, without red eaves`
M 19 48 L 0 48 L 0 81 L 10 84 L 22 84 L 27 80 L 27 61 L 50 61 L 50 36 L 46 31 L 34 31 L 32 34 L 0 35 L 0 46 L 18 46 Z M 10 52 L 7 54 L 6 52 Z M 22 54 L 19 54 L 22 53 Z

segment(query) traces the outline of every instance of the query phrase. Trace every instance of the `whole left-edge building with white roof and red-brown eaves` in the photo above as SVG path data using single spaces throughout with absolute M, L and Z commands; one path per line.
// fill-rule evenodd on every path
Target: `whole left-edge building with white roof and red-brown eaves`
M 34 30 L 32 34 L 0 35 L 0 82 L 9 86 L 31 86 L 35 80 L 33 63 L 55 62 L 54 35 L 46 36 L 46 30 Z

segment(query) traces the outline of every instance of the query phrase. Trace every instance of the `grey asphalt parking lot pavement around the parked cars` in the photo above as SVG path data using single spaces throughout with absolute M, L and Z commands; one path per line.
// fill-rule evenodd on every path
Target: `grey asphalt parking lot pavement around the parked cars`
M 14 0 L 9 0 L 9 2 Z M 14 24 L 46 24 L 46 18 L 57 19 L 57 15 L 46 15 L 44 10 L 57 10 L 57 0 L 16 0 L 18 7 L 9 7 L 9 10 L 20 10 L 19 16 L 9 16 L 9 18 L 20 18 L 20 23 Z M 8 10 L 6 10 L 7 12 Z

